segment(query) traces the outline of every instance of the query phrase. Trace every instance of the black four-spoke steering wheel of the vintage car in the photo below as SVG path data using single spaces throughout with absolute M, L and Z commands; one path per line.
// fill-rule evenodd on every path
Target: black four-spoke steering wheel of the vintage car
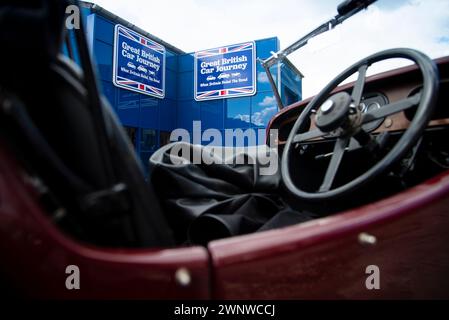
M 366 70 L 375 62 L 391 58 L 405 58 L 415 62 L 423 77 L 422 90 L 408 98 L 362 113 L 361 98 L 365 85 Z M 331 92 L 345 79 L 358 72 L 351 95 L 339 92 L 330 96 Z M 282 178 L 286 187 L 298 198 L 305 200 L 329 200 L 347 195 L 356 188 L 366 184 L 387 170 L 393 163 L 401 159 L 421 137 L 436 105 L 439 87 L 438 69 L 435 63 L 425 54 L 407 48 L 381 51 L 355 63 L 334 80 L 332 80 L 313 100 L 296 120 L 284 147 L 281 162 Z M 365 132 L 362 126 L 366 123 L 383 119 L 394 113 L 404 111 L 418 105 L 417 111 L 407 130 L 394 147 L 369 170 L 352 179 L 350 182 L 333 188 L 334 179 L 343 160 L 343 155 L 351 139 L 360 144 L 375 145 L 376 139 Z M 312 110 L 316 111 L 316 128 L 305 133 L 298 133 Z M 293 145 L 323 136 L 336 139 L 333 153 L 324 175 L 324 180 L 315 192 L 305 192 L 298 188 L 291 179 L 290 166 Z M 362 143 L 361 143 L 362 142 Z M 301 168 L 295 168 L 301 170 Z

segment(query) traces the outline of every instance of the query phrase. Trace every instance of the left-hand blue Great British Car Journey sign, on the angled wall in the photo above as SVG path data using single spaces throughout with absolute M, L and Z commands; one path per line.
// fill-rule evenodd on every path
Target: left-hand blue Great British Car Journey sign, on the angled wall
M 114 39 L 114 84 L 164 98 L 165 48 L 122 25 L 115 26 Z

